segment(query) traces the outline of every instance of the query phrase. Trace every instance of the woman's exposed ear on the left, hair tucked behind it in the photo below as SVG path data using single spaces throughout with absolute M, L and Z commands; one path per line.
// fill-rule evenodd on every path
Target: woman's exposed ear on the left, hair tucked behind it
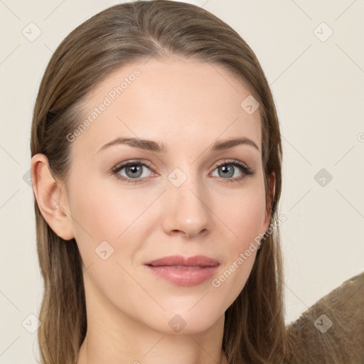
M 53 178 L 44 154 L 36 154 L 31 159 L 31 181 L 39 210 L 50 228 L 63 240 L 73 239 L 75 235 L 65 186 Z

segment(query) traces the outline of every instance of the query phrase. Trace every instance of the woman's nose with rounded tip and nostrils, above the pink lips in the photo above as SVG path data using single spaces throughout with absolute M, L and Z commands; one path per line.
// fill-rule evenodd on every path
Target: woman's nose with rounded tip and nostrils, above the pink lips
M 188 176 L 181 186 L 167 181 L 167 191 L 163 196 L 166 206 L 163 228 L 166 234 L 182 235 L 188 239 L 207 234 L 212 224 L 208 197 L 208 190 L 198 178 Z

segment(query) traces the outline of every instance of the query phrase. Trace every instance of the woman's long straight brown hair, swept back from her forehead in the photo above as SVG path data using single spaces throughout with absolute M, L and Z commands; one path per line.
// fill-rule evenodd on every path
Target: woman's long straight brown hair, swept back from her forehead
M 33 112 L 31 155 L 45 154 L 53 176 L 67 181 L 70 142 L 89 92 L 122 65 L 141 58 L 193 58 L 223 66 L 259 102 L 262 164 L 272 233 L 257 252 L 244 289 L 225 312 L 223 350 L 230 364 L 282 363 L 287 355 L 277 205 L 282 144 L 272 92 L 255 53 L 228 24 L 178 1 L 112 6 L 75 28 L 53 53 Z M 268 178 L 276 176 L 269 200 Z M 82 264 L 75 239 L 65 241 L 45 222 L 34 199 L 38 258 L 44 279 L 38 341 L 44 364 L 74 364 L 87 331 Z

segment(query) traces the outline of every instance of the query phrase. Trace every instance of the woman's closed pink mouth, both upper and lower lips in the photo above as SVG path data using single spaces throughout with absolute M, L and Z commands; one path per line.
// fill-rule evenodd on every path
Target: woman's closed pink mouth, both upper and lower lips
M 220 262 L 203 255 L 195 257 L 174 255 L 146 262 L 144 266 L 149 272 L 172 284 L 191 287 L 211 278 L 220 266 Z

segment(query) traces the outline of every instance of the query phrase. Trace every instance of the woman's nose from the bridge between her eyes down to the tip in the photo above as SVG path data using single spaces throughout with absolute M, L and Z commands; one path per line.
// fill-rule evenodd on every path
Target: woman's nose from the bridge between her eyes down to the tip
M 208 190 L 203 179 L 193 172 L 193 166 L 184 167 L 184 171 L 182 168 L 175 168 L 167 177 L 164 228 L 169 232 L 179 230 L 191 237 L 208 229 Z

